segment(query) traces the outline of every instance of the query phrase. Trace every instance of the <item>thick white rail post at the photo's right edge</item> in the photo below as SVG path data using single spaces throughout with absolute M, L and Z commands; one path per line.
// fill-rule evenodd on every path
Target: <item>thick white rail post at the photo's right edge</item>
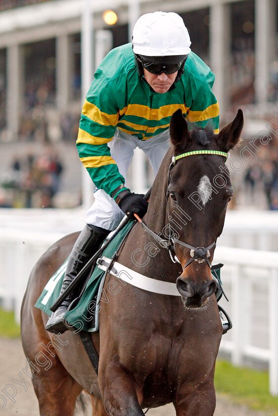
M 278 269 L 271 269 L 270 290 L 270 365 L 269 384 L 271 394 L 278 396 Z

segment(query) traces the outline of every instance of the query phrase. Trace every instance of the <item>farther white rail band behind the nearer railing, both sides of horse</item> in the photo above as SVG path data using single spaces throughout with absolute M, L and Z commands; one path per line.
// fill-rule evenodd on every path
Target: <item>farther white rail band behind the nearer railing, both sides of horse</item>
M 41 233 L 81 230 L 85 208 L 4 209 L 0 208 L 0 230 L 26 230 Z M 218 246 L 278 251 L 278 211 L 228 210 Z

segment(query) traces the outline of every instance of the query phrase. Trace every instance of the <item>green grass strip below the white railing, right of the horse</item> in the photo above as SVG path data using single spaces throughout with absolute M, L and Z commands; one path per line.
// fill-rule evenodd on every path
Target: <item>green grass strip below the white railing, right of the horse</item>
M 217 360 L 215 388 L 234 403 L 250 409 L 278 416 L 278 397 L 269 393 L 269 373 L 251 368 L 236 367 Z

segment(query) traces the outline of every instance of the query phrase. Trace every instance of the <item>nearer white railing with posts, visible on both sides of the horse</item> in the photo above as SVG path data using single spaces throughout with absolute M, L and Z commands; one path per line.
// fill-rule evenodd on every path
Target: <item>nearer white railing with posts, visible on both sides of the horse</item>
M 0 299 L 15 311 L 20 307 L 29 274 L 39 257 L 65 233 L 0 230 Z M 223 262 L 221 278 L 230 302 L 220 304 L 233 328 L 223 336 L 220 351 L 232 363 L 245 358 L 269 363 L 270 391 L 278 395 L 278 254 L 217 247 L 213 263 Z

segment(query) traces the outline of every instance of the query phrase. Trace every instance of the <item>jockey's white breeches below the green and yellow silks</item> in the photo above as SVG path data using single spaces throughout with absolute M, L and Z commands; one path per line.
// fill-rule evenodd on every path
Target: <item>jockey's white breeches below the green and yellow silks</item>
M 111 156 L 115 160 L 119 172 L 125 180 L 134 154 L 134 149 L 137 147 L 142 149 L 144 154 L 148 157 L 154 174 L 156 175 L 162 159 L 170 147 L 169 130 L 148 140 L 142 141 L 117 128 L 115 136 L 113 140 L 108 143 L 108 146 L 110 148 Z M 106 194 L 102 189 L 96 189 L 93 196 L 94 203 L 85 215 L 86 223 L 106 230 L 114 230 L 124 217 L 124 212 L 117 206 L 113 198 Z

